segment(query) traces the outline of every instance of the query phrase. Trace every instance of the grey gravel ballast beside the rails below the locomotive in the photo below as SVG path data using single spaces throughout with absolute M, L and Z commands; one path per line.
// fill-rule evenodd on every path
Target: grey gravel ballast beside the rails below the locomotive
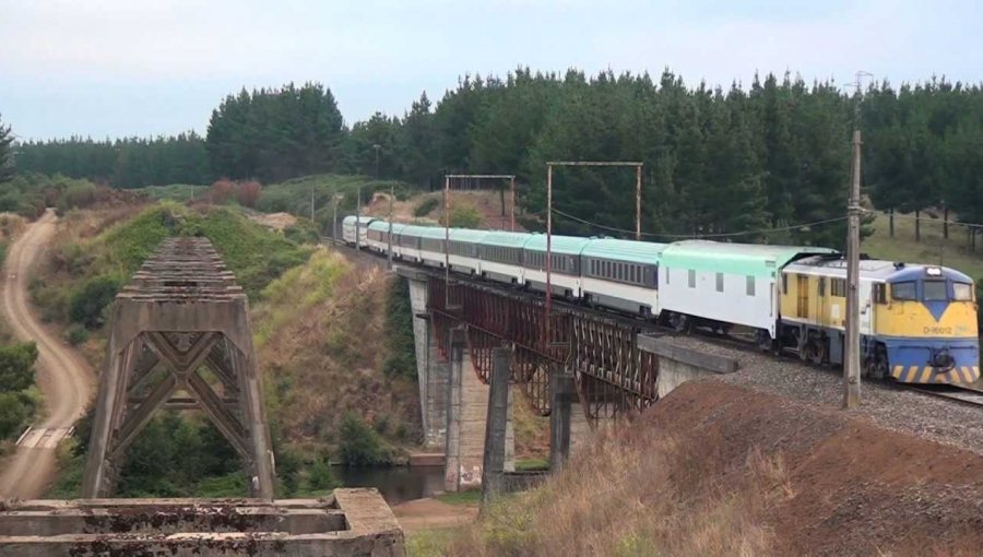
M 821 408 L 842 407 L 842 369 L 838 367 L 813 367 L 791 357 L 774 357 L 751 348 L 736 349 L 699 337 L 675 337 L 673 342 L 737 359 L 737 372 L 714 376 L 711 380 L 804 401 Z M 861 406 L 843 412 L 868 418 L 888 429 L 983 454 L 983 406 L 905 390 L 887 381 L 865 381 L 861 384 Z

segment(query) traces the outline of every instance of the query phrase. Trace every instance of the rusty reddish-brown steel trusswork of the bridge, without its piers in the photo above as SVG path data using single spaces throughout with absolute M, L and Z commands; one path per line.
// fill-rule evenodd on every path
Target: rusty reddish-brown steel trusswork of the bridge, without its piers
M 466 331 L 474 371 L 484 383 L 492 374 L 492 351 L 512 349 L 510 380 L 521 386 L 542 416 L 549 415 L 549 377 L 569 372 L 592 425 L 626 412 L 642 410 L 658 399 L 659 362 L 638 348 L 642 323 L 606 318 L 559 306 L 549 315 L 537 297 L 443 277 L 428 278 L 428 310 L 442 358 L 448 356 L 450 330 Z

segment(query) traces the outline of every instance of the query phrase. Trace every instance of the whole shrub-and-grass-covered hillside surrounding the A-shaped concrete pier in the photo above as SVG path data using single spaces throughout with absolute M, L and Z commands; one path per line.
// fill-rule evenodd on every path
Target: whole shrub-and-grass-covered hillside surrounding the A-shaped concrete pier
M 333 487 L 330 461 L 404 458 L 403 448 L 415 442 L 419 429 L 415 367 L 403 364 L 405 354 L 393 356 L 405 346 L 377 341 L 383 330 L 410 328 L 405 311 L 387 311 L 393 283 L 323 248 L 297 244 L 237 208 L 163 202 L 70 212 L 32 281 L 35 301 L 49 320 L 68 325 L 68 340 L 81 344 L 98 369 L 106 306 L 173 235 L 210 238 L 249 295 L 280 496 Z M 61 450 L 63 473 L 51 496 L 78 496 L 86 440 L 83 420 Z M 128 451 L 119 489 L 130 496 L 247 493 L 237 457 L 196 413 L 183 418 L 164 413 L 151 422 Z

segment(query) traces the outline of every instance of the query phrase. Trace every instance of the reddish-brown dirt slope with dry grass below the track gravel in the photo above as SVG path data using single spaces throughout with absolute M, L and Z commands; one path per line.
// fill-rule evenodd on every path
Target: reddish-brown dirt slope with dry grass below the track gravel
M 695 381 L 445 554 L 980 555 L 981 471 L 983 455 L 841 411 Z

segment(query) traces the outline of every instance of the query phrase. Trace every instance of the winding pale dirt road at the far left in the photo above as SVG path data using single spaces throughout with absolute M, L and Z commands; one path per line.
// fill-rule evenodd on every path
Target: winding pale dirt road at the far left
M 50 209 L 27 226 L 10 247 L 3 265 L 0 309 L 14 335 L 37 343 L 37 379 L 45 394 L 39 419 L 17 445 L 0 471 L 0 497 L 39 497 L 55 475 L 55 448 L 85 410 L 94 374 L 75 351 L 42 325 L 28 304 L 31 268 L 55 234 Z

